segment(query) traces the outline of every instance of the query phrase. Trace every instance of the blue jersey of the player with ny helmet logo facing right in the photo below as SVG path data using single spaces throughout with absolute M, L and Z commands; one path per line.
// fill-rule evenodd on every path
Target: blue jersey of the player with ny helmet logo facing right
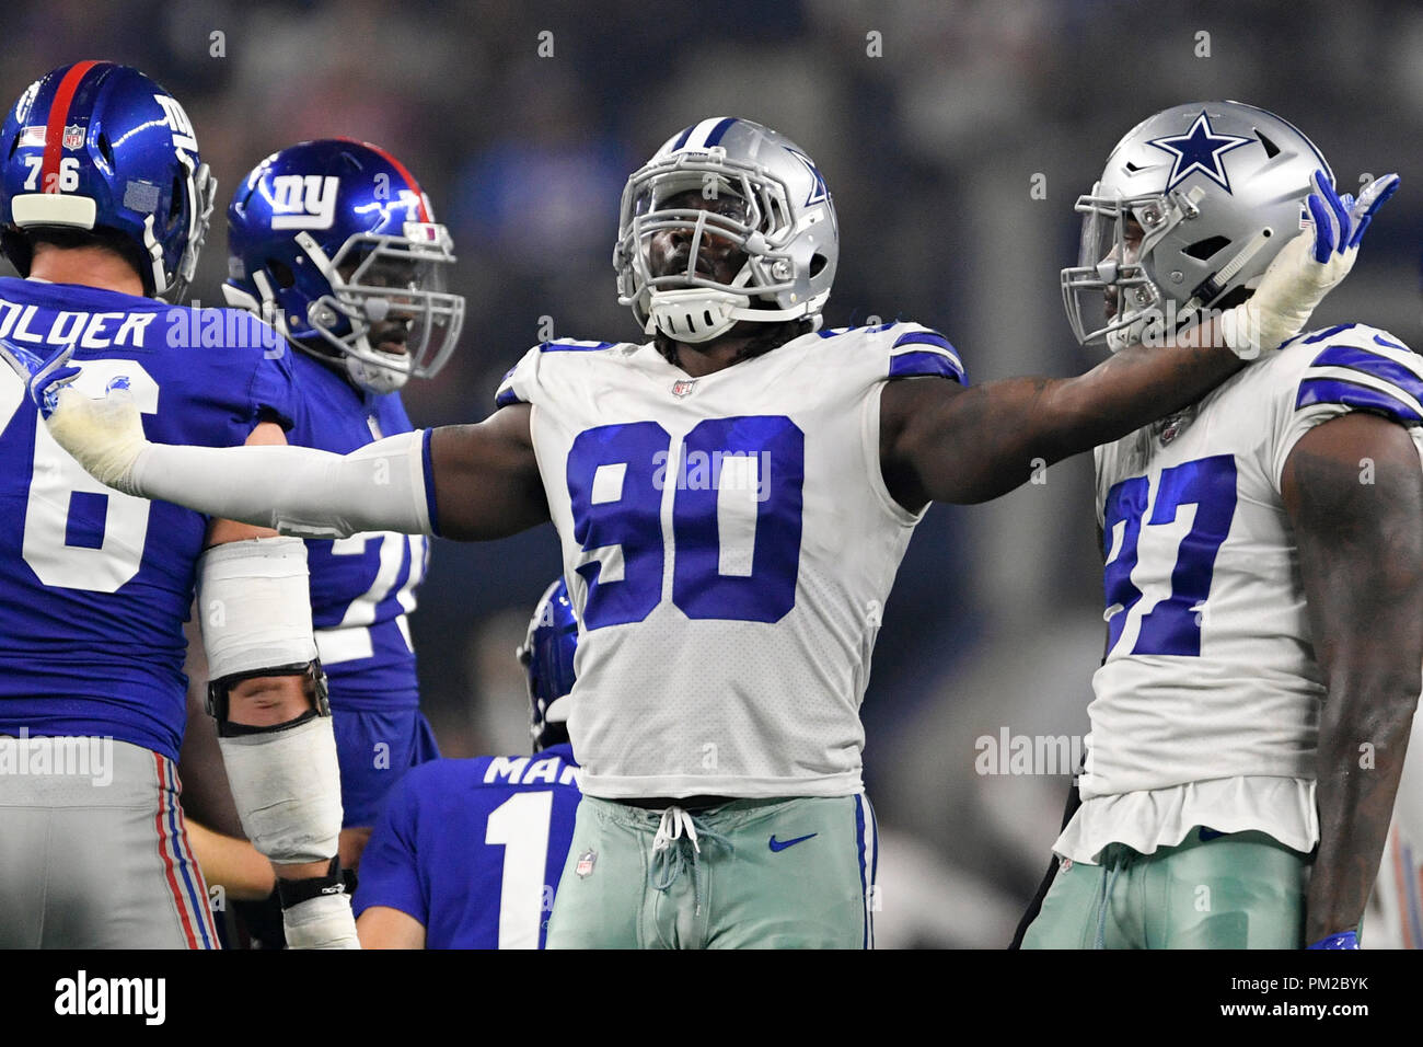
M 292 355 L 300 403 L 287 439 L 303 447 L 349 454 L 386 436 L 408 433 L 398 393 L 357 390 L 306 353 Z M 312 625 L 334 708 L 388 712 L 420 707 L 416 652 L 407 615 L 425 577 L 430 543 L 423 534 L 366 531 L 307 541 Z

